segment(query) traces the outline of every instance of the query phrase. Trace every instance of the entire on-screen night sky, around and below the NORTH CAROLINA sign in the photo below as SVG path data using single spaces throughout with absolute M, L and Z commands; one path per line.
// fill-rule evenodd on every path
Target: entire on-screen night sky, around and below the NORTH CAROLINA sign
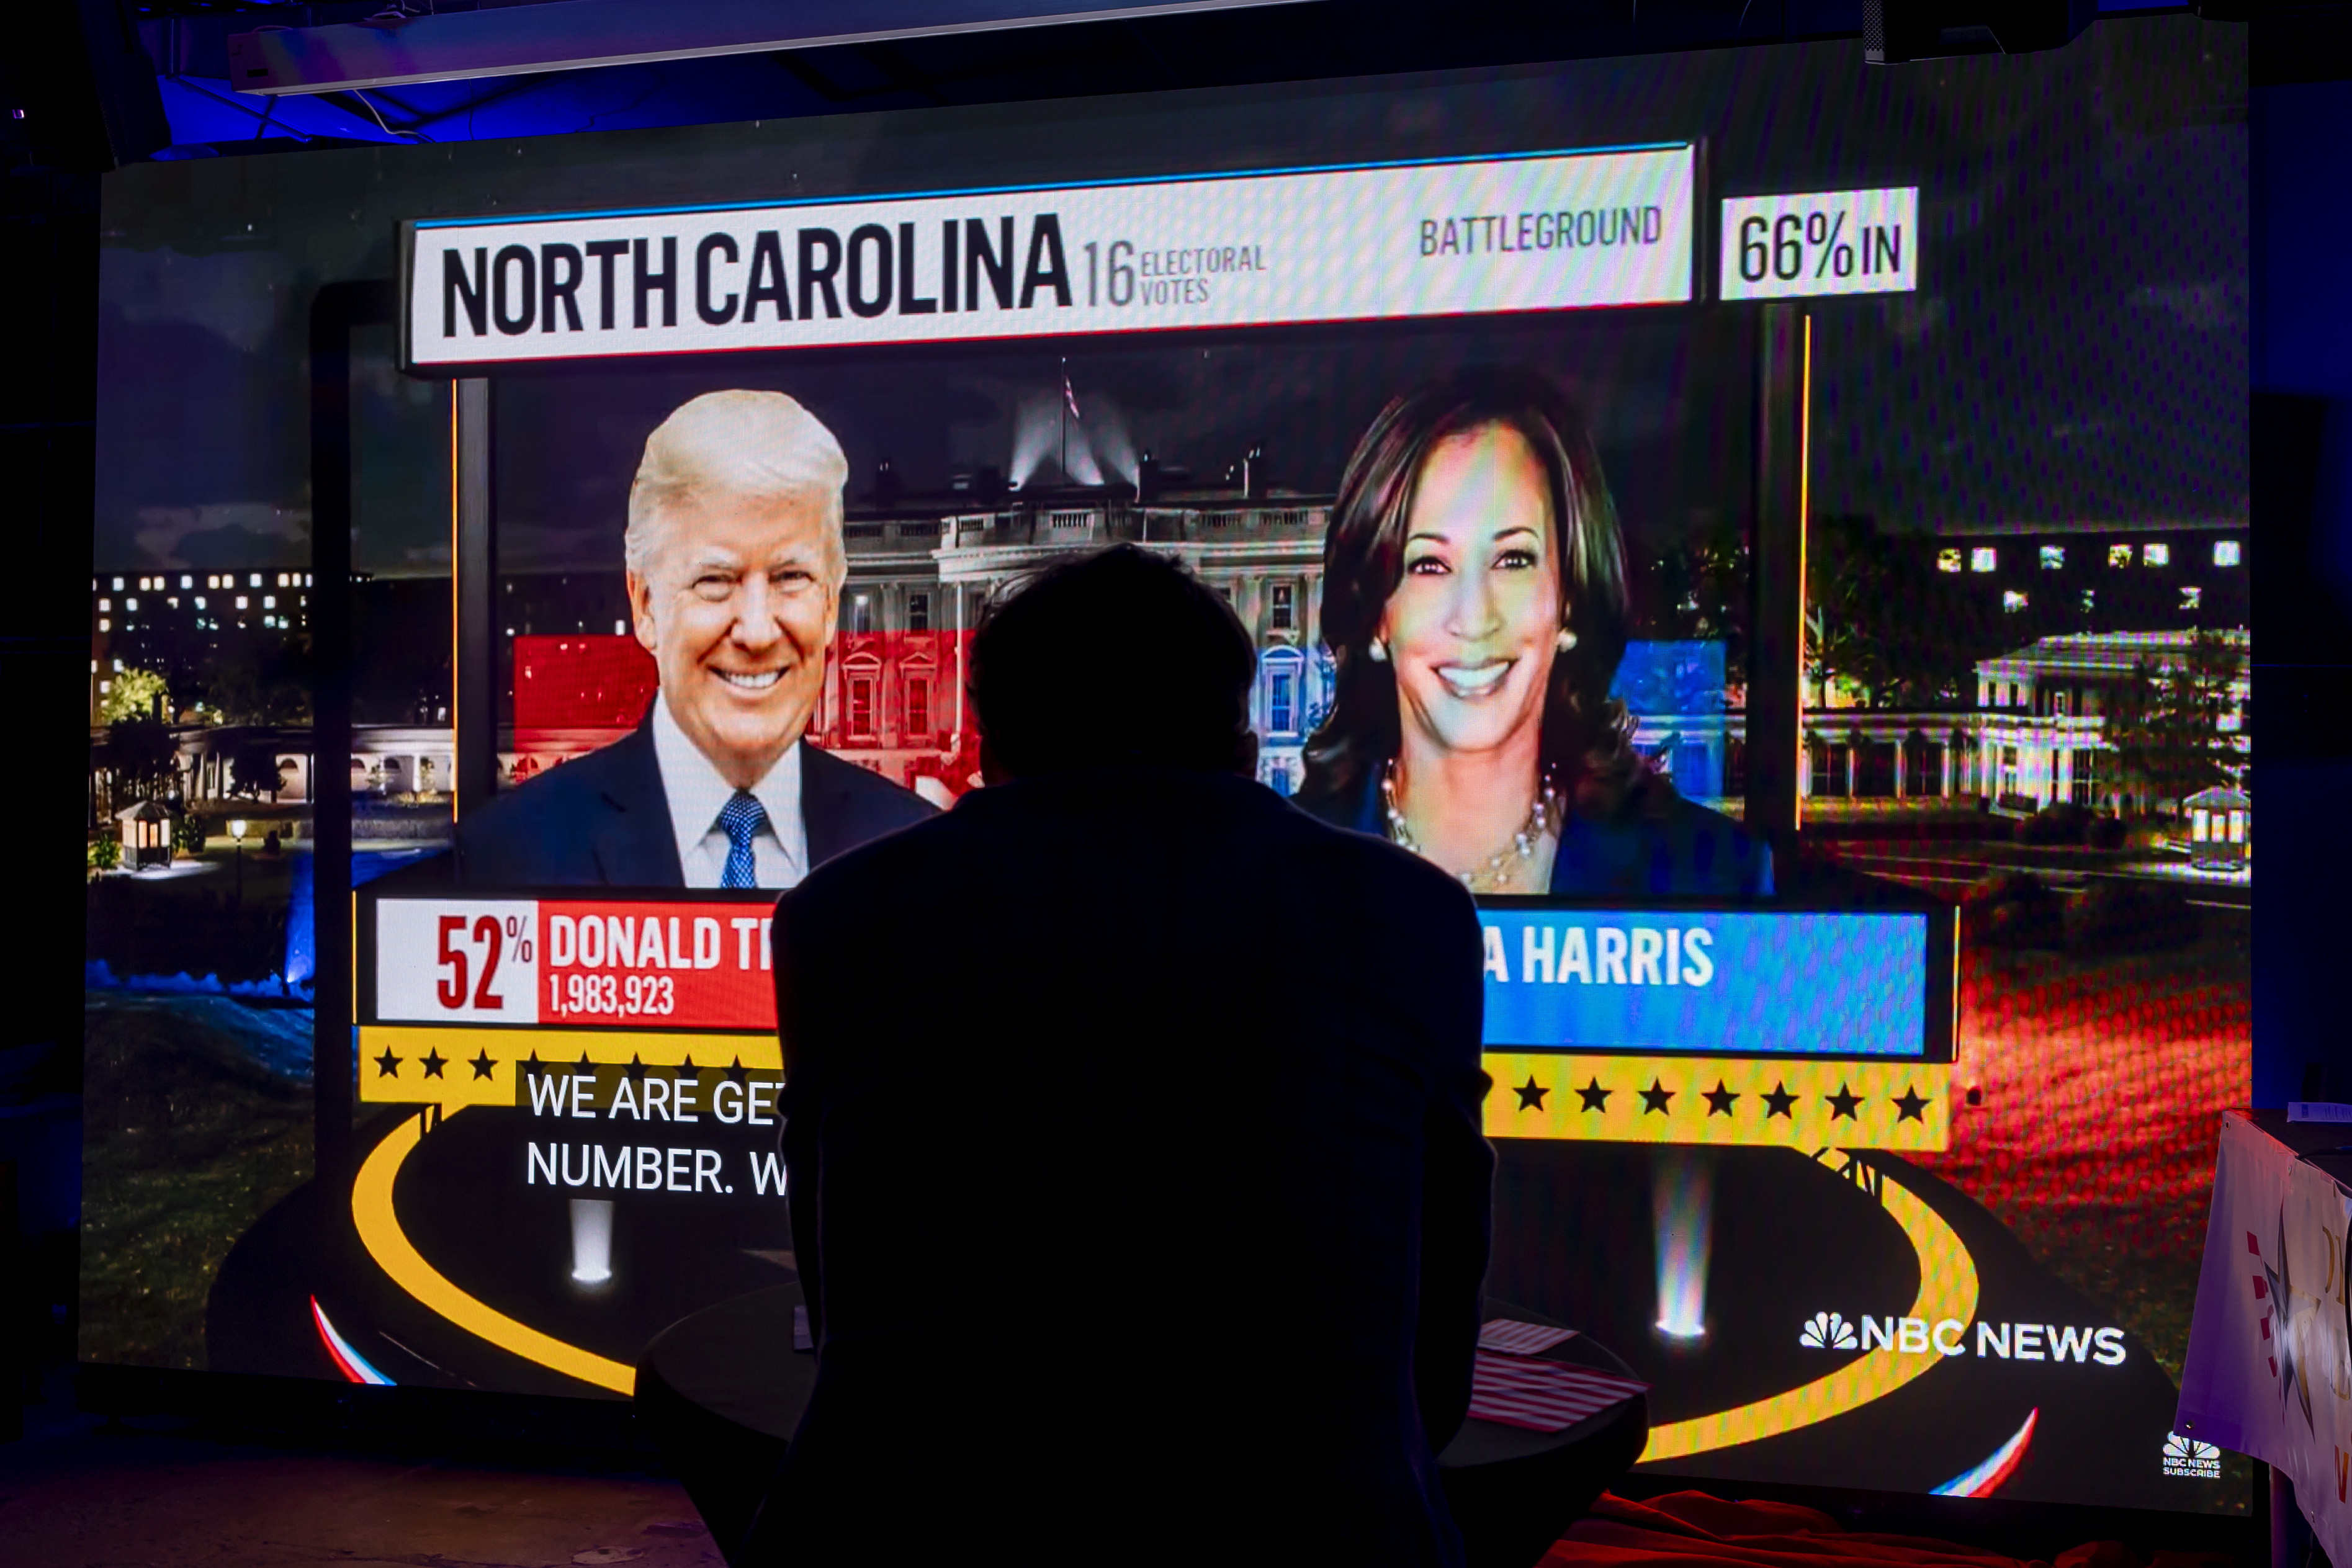
M 1585 61 L 1439 85 L 1301 85 L 515 143 L 285 153 L 108 176 L 101 571 L 308 559 L 303 322 L 388 277 L 402 216 L 1120 179 L 1378 155 L 1705 141 L 1710 195 L 1922 186 L 1922 287 L 1816 313 L 1816 512 L 1903 529 L 2244 520 L 2244 28 L 2110 19 L 2018 59 L 1865 68 L 1853 40 Z M 447 388 L 362 343 L 355 557 L 447 571 Z M 1251 444 L 1329 491 L 1378 402 L 1463 360 L 1585 404 L 1628 529 L 1745 512 L 1752 308 L 635 362 L 501 390 L 506 564 L 609 567 L 644 433 L 776 386 L 863 489 L 1014 465 L 1058 395 L 1211 480 Z M 1108 444 L 1117 444 L 1110 440 Z

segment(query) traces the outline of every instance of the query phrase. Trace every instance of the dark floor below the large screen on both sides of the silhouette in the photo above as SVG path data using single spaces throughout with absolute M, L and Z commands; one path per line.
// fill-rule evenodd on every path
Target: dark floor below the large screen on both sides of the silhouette
M 0 1568 L 722 1563 L 684 1488 L 647 1453 L 315 1439 L 188 1418 L 106 1425 L 75 1408 L 71 1368 L 54 1368 L 42 1392 L 42 1403 L 24 1408 L 24 1436 L 0 1443 Z M 1618 1490 L 1649 1497 L 1689 1486 L 1635 1474 Z M 2260 1516 L 1700 1488 L 1806 1502 L 1851 1530 L 1959 1540 L 2023 1561 L 2117 1540 L 2138 1559 L 2166 1549 L 2234 1568 L 2270 1563 Z

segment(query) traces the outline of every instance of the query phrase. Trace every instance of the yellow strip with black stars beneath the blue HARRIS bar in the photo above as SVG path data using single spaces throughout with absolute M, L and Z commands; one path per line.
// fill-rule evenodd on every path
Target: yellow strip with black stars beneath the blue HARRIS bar
M 1945 1150 L 1950 1063 L 1489 1051 L 1489 1138 Z

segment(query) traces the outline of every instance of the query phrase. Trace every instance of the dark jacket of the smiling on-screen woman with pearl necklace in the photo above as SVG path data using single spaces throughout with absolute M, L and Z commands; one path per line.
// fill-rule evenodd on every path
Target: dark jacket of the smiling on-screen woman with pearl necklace
M 1298 802 L 1336 825 L 1388 837 L 1381 780 L 1369 776 L 1352 799 Z M 1571 816 L 1552 856 L 1555 898 L 1769 898 L 1771 844 L 1722 811 L 1679 795 L 1630 802 L 1613 818 Z

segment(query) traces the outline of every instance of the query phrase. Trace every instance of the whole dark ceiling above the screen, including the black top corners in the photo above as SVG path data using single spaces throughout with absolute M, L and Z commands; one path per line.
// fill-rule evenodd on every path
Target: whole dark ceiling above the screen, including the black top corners
M 485 0 L 75 0 L 42 7 L 16 33 L 12 49 L 0 47 L 0 162 L 96 172 L 162 148 L 169 148 L 162 150 L 167 158 L 207 158 L 320 143 L 480 141 L 781 120 L 1804 38 L 1858 40 L 1863 26 L 1863 0 L 1308 0 L 280 99 L 230 87 L 233 33 L 482 7 Z M 2352 63 L 2347 7 L 2340 2 L 2209 0 L 2199 9 L 2216 16 L 2230 7 L 2263 12 L 2251 40 L 2256 80 L 2338 75 Z M 2187 7 L 2100 0 L 2098 9 Z M 75 54 L 96 59 L 94 80 L 61 68 Z

